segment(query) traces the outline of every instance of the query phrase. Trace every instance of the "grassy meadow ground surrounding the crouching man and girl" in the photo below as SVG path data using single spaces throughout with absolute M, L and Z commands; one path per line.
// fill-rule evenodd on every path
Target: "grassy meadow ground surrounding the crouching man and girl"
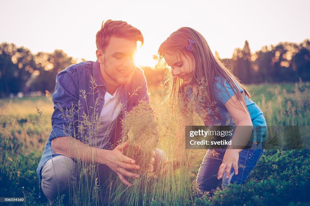
M 310 125 L 310 83 L 247 85 L 264 113 L 267 125 Z M 155 125 L 156 147 L 173 157 L 178 144 L 176 136 L 184 124 L 178 123 L 178 110 L 162 106 L 162 88 L 149 88 Z M 139 109 L 139 108 L 138 108 Z M 136 110 L 131 118 L 143 112 Z M 171 109 L 171 108 L 170 108 Z M 0 99 L 0 196 L 25 197 L 24 205 L 48 205 L 38 200 L 38 177 L 35 172 L 51 130 L 53 102 L 51 96 Z M 136 115 L 136 116 L 135 116 Z M 138 116 L 137 116 L 138 115 Z M 201 125 L 198 117 L 190 117 L 192 125 Z M 145 120 L 145 119 L 144 119 Z M 140 120 L 140 123 L 142 120 Z M 136 122 L 137 123 L 137 122 Z M 139 123 L 139 121 L 138 121 Z M 184 123 L 184 122 L 183 122 Z M 186 122 L 188 123 L 188 122 Z M 138 130 L 134 123 L 129 138 Z M 140 125 L 143 127 L 143 125 Z M 182 135 L 181 135 L 182 136 Z M 128 139 L 126 139 L 128 140 Z M 129 141 L 131 141 L 129 139 Z M 132 140 L 134 141 L 134 140 Z M 139 140 L 137 140 L 139 141 Z M 145 139 L 141 142 L 145 143 Z M 143 143 L 140 143 L 143 145 Z M 139 144 L 139 142 L 135 143 Z M 152 143 L 154 144 L 154 143 Z M 124 190 L 115 175 L 109 183 L 110 205 L 309 205 L 310 152 L 308 149 L 266 149 L 245 185 L 220 187 L 213 197 L 198 199 L 194 180 L 205 150 L 188 151 L 185 166 L 165 176 L 143 176 Z M 134 180 L 132 180 L 134 181 Z M 96 205 L 90 197 L 70 204 Z M 11 203 L 3 205 L 20 205 Z M 61 205 L 61 200 L 56 205 Z

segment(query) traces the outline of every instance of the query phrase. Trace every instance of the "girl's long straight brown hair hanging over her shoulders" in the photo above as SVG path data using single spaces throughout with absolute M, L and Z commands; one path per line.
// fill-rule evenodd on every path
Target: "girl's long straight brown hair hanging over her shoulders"
M 195 41 L 195 44 L 191 45 L 193 51 L 186 49 L 186 46 L 189 45 L 188 39 Z M 213 85 L 214 78 L 217 76 L 222 80 L 220 84 L 224 85 L 223 79 L 226 79 L 230 87 L 237 91 L 235 93 L 237 99 L 243 103 L 243 109 L 249 113 L 245 106 L 246 104 L 244 101 L 244 96 L 241 94 L 237 85 L 241 87 L 244 95 L 250 98 L 250 94 L 246 90 L 246 87 L 241 84 L 239 79 L 237 79 L 237 77 L 234 76 L 232 72 L 228 70 L 224 64 L 212 54 L 206 39 L 199 32 L 189 27 L 179 28 L 160 45 L 158 49 L 159 58 L 162 59 L 164 57 L 164 53 L 169 55 L 175 54 L 177 57 L 180 57 L 181 55 L 187 55 L 193 60 L 194 70 L 192 84 L 198 85 L 203 83 L 203 85 L 207 85 L 203 88 L 203 93 L 207 94 L 205 101 L 208 105 L 210 105 L 210 109 L 212 111 L 216 110 L 216 105 L 212 103 L 216 101 Z M 237 85 L 233 81 L 235 81 Z M 170 71 L 166 72 L 165 82 L 168 83 L 169 87 L 166 100 L 170 100 L 172 103 L 178 101 L 179 94 L 184 92 L 185 85 L 183 80 L 179 77 L 174 77 Z

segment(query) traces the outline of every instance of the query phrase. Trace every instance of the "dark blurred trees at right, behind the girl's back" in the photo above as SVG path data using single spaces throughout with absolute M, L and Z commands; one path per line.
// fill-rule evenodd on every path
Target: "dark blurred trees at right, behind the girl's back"
M 254 54 L 248 41 L 243 49 L 234 50 L 227 62 L 232 73 L 242 83 L 296 82 L 310 80 L 310 41 L 300 44 L 283 42 L 276 46 L 264 46 Z

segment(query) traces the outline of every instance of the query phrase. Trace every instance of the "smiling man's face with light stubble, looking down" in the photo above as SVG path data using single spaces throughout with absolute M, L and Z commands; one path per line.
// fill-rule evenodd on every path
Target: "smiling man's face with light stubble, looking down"
M 114 36 L 110 37 L 104 52 L 97 50 L 101 74 L 107 87 L 129 84 L 136 67 L 136 50 L 136 41 Z

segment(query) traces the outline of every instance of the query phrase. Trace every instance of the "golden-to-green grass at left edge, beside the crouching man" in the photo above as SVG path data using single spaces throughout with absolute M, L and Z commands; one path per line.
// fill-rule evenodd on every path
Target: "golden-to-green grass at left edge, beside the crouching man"
M 46 98 L 47 101 L 50 100 Z M 41 99 L 36 103 L 44 105 L 46 111 L 42 116 L 36 115 L 33 101 L 2 102 L 0 107 L 0 190 L 2 196 L 23 197 L 34 200 L 38 191 L 38 179 L 35 172 L 42 155 L 46 137 L 49 134 L 42 127 L 43 122 L 49 122 L 51 107 Z M 35 188 L 35 190 L 34 190 Z M 30 204 L 31 203 L 31 204 Z M 15 204 L 16 205 L 16 204 Z M 27 205 L 35 205 L 28 202 Z

